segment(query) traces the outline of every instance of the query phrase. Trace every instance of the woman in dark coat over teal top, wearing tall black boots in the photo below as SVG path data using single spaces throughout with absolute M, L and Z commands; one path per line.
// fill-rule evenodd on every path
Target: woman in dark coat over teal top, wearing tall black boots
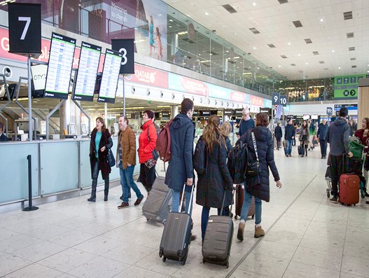
M 108 163 L 108 150 L 113 146 L 111 135 L 106 128 L 104 120 L 101 117 L 96 119 L 96 127 L 92 130 L 90 141 L 90 165 L 92 177 L 91 197 L 88 202 L 96 201 L 96 186 L 99 171 L 102 172 L 102 179 L 104 179 L 104 201 L 108 200 L 109 194 L 109 174 L 111 167 Z

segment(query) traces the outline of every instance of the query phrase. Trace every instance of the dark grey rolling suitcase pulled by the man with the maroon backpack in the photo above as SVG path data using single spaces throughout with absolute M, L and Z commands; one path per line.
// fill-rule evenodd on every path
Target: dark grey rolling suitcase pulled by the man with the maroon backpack
M 185 187 L 183 187 L 183 190 L 185 190 Z M 179 211 L 181 211 L 183 204 L 183 195 Z M 192 199 L 193 187 L 191 188 L 190 205 Z M 188 211 L 190 211 L 190 208 Z M 163 262 L 169 258 L 169 260 L 179 260 L 182 265 L 185 265 L 188 249 L 190 249 L 192 226 L 193 221 L 190 214 L 169 212 L 164 231 L 162 232 L 162 240 L 159 249 L 159 256 L 162 258 Z

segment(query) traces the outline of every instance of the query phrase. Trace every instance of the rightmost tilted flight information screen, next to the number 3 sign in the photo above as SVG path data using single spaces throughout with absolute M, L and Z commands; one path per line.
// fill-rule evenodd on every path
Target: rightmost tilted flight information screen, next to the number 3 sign
M 102 84 L 100 85 L 97 102 L 116 102 L 120 62 L 122 53 L 106 49 L 104 69 L 102 70 Z

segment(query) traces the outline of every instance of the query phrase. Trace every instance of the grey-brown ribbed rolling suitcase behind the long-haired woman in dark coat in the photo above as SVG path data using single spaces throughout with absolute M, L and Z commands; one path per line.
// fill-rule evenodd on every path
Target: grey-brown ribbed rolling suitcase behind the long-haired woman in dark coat
M 223 211 L 224 200 L 225 192 L 221 211 Z M 207 230 L 202 244 L 202 263 L 207 262 L 217 265 L 225 265 L 228 268 L 232 237 L 232 218 L 218 215 L 209 216 L 209 220 L 207 221 Z

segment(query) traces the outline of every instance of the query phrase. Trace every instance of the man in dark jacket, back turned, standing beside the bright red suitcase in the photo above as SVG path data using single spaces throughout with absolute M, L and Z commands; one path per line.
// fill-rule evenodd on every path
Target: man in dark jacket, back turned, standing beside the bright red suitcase
M 330 202 L 338 202 L 338 181 L 343 173 L 344 167 L 344 155 L 349 155 L 351 158 L 352 153 L 349 151 L 349 134 L 350 127 L 347 124 L 345 118 L 347 117 L 346 107 L 342 107 L 340 110 L 340 117 L 328 127 L 326 134 L 326 141 L 329 143 L 330 150 L 330 174 L 332 175 L 332 195 Z

